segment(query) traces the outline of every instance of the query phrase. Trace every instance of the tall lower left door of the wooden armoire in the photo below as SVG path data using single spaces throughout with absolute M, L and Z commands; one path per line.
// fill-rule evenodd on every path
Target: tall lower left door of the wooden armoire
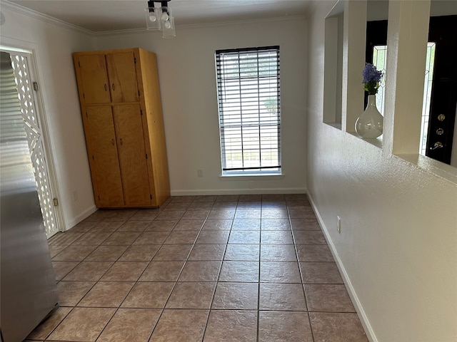
M 96 177 L 99 206 L 122 206 L 124 195 L 111 105 L 88 107 L 87 122 L 92 152 L 89 158 L 95 168 L 92 177 Z

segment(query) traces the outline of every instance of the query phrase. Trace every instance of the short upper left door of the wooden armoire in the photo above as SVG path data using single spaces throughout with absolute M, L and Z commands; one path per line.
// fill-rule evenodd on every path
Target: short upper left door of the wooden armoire
M 84 102 L 110 103 L 105 55 L 81 55 L 76 61 L 76 68 L 79 68 L 81 76 Z

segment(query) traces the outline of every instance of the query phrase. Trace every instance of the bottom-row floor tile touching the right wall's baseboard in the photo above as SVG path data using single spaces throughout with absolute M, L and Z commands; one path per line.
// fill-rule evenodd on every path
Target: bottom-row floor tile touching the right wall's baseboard
M 315 342 L 368 342 L 357 314 L 310 312 Z

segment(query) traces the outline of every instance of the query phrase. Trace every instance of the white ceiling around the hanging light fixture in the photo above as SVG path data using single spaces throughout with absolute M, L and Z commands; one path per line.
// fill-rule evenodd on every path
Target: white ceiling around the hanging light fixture
M 93 32 L 146 28 L 146 0 L 9 0 Z M 176 26 L 304 16 L 311 0 L 171 0 Z M 156 4 L 159 6 L 159 3 Z

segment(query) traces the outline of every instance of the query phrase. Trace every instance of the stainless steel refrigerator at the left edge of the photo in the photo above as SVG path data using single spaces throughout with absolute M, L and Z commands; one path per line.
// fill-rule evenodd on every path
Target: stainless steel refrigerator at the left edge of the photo
M 0 333 L 19 342 L 59 296 L 11 59 L 0 53 Z

